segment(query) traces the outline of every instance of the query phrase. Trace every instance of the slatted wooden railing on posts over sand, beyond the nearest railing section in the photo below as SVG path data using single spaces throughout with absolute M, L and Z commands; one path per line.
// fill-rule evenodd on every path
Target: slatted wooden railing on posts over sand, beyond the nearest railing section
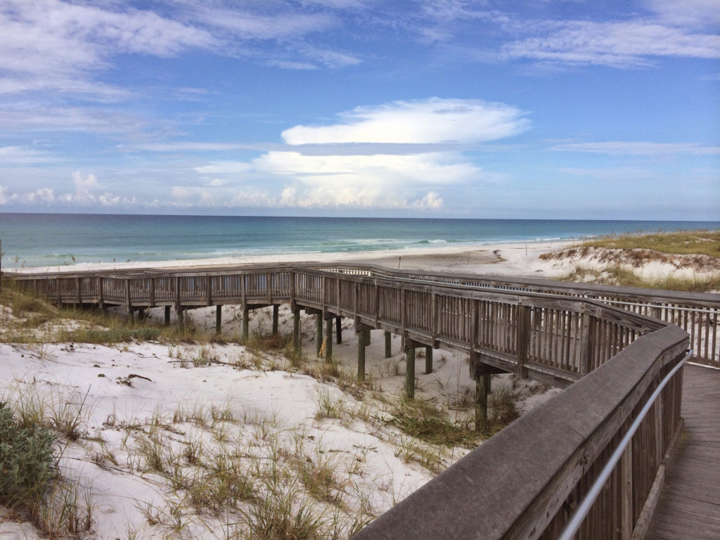
M 665 326 L 593 300 L 302 266 L 16 279 L 58 303 L 123 305 L 127 310 L 289 302 L 353 318 L 357 328 L 397 333 L 406 348 L 413 343 L 454 348 L 471 354 L 475 363 L 560 386 L 600 366 L 638 336 Z

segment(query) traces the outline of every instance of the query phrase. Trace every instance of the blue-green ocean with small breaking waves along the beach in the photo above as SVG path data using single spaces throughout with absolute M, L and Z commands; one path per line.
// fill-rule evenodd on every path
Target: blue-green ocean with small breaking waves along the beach
M 720 222 L 3 214 L 3 268 L 346 253 L 720 229 Z

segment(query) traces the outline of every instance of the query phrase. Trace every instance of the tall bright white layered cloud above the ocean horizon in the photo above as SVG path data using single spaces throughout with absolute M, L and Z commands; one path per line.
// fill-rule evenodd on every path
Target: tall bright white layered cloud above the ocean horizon
M 174 200 L 227 205 L 238 200 L 233 189 L 245 193 L 248 181 L 262 179 L 263 196 L 253 193 L 243 200 L 280 207 L 436 210 L 444 202 L 445 186 L 496 181 L 456 145 L 444 143 L 472 146 L 517 135 L 530 127 L 525 116 L 516 107 L 472 99 L 356 107 L 340 114 L 335 124 L 301 125 L 282 132 L 292 150 L 195 167 L 197 173 L 213 176 L 202 188 L 178 186 Z M 306 145 L 325 146 L 318 154 Z M 361 145 L 363 151 L 354 152 Z M 393 153 L 395 145 L 402 145 L 402 150 Z

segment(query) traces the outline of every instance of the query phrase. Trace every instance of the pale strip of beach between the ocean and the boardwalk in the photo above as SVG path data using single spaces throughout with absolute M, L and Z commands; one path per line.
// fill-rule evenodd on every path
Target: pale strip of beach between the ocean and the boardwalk
M 277 255 L 248 255 L 240 257 L 189 258 L 175 261 L 132 261 L 126 263 L 81 263 L 72 266 L 4 267 L 4 271 L 20 274 L 45 272 L 152 269 L 224 268 L 243 264 L 287 263 L 367 263 L 401 270 L 451 271 L 468 274 L 497 274 L 513 276 L 557 276 L 564 269 L 557 264 L 541 261 L 547 253 L 576 243 L 577 240 L 551 240 L 475 244 L 468 246 L 442 246 L 405 248 L 395 250 L 283 253 Z

